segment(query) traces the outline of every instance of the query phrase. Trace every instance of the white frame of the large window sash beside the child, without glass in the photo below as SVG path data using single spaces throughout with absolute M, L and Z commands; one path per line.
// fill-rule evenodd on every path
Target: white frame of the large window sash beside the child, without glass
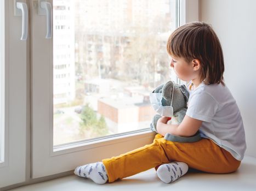
M 52 4 L 53 0 L 48 2 Z M 198 0 L 180 0 L 177 9 L 185 10 L 179 25 L 198 20 Z M 37 15 L 35 8 L 30 10 L 30 14 L 33 17 L 31 22 L 32 178 L 72 171 L 78 165 L 100 161 L 150 144 L 155 133 L 144 129 L 73 142 L 69 146 L 52 149 L 53 129 L 50 127 L 53 124 L 51 107 L 53 105 L 53 39 L 44 38 L 45 17 Z

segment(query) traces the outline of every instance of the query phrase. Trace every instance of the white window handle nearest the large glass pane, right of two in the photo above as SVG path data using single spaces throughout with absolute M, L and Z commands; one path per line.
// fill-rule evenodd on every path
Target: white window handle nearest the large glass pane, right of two
M 39 1 L 39 15 L 46 15 L 46 36 L 45 38 L 52 38 L 52 5 L 46 1 Z

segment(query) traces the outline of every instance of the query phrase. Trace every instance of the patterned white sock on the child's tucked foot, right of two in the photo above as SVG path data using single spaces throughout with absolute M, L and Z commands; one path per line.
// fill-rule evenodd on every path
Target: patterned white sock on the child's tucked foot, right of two
M 186 163 L 172 162 L 159 166 L 156 174 L 161 181 L 171 183 L 185 175 L 187 170 L 189 170 L 189 166 Z

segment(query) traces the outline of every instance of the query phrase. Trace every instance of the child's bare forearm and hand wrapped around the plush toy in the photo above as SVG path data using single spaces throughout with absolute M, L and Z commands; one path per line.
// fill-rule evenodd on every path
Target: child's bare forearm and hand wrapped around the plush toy
M 166 124 L 170 120 L 170 117 L 161 117 L 157 121 L 157 132 L 161 135 L 170 133 L 173 135 L 189 137 L 194 135 L 201 127 L 202 121 L 196 120 L 185 115 L 183 121 L 180 124 Z

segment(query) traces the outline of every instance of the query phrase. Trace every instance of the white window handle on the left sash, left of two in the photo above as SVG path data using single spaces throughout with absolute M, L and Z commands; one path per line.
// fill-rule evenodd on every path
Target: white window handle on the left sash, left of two
M 20 40 L 27 40 L 27 4 L 22 2 L 16 2 L 16 8 L 21 9 L 22 15 L 22 34 Z

